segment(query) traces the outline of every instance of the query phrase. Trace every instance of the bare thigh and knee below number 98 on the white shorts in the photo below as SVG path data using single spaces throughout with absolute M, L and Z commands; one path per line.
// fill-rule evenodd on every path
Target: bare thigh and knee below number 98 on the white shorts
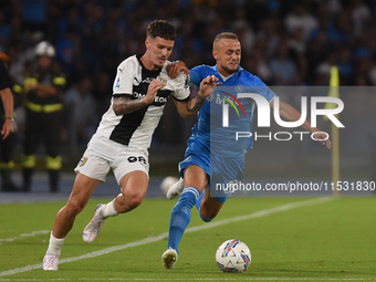
M 145 198 L 149 178 L 143 170 L 133 170 L 122 177 L 119 185 L 125 200 L 138 206 Z

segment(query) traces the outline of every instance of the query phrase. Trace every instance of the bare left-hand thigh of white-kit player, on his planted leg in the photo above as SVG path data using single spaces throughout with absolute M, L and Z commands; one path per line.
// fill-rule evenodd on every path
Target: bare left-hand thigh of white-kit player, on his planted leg
M 98 179 L 93 179 L 88 176 L 77 173 L 66 206 L 71 209 L 76 210 L 76 212 L 80 212 L 86 206 L 88 199 L 92 197 L 94 189 L 102 181 Z

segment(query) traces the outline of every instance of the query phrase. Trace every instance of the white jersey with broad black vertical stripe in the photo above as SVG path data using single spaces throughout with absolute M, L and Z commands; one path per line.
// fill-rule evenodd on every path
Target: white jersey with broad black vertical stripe
M 157 71 L 147 70 L 142 55 L 133 55 L 124 60 L 117 67 L 113 86 L 113 98 L 108 111 L 102 116 L 101 124 L 95 133 L 119 144 L 147 149 L 152 143 L 152 135 L 157 127 L 168 96 L 175 100 L 189 100 L 190 90 L 186 76 L 180 73 L 171 80 L 166 72 L 167 63 Z M 154 102 L 130 114 L 116 115 L 113 109 L 114 97 L 128 96 L 130 100 L 142 98 L 154 79 L 159 79 L 166 85 L 157 92 Z

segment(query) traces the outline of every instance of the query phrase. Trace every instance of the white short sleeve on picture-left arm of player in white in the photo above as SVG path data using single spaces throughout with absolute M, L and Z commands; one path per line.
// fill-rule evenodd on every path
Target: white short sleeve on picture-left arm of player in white
M 129 58 L 123 61 L 116 72 L 116 77 L 113 85 L 113 93 L 116 94 L 128 94 L 133 92 L 133 81 L 135 79 L 136 65 Z

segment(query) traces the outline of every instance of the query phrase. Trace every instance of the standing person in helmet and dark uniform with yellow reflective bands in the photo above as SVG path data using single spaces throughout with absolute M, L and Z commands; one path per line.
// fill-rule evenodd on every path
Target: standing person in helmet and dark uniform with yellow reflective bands
M 53 70 L 55 50 L 49 42 L 35 46 L 35 69 L 27 75 L 25 108 L 27 124 L 24 133 L 23 191 L 29 191 L 32 175 L 36 166 L 36 150 L 44 142 L 46 147 L 46 169 L 50 178 L 50 191 L 59 190 L 60 135 L 62 126 L 63 88 L 66 81 L 63 74 Z

